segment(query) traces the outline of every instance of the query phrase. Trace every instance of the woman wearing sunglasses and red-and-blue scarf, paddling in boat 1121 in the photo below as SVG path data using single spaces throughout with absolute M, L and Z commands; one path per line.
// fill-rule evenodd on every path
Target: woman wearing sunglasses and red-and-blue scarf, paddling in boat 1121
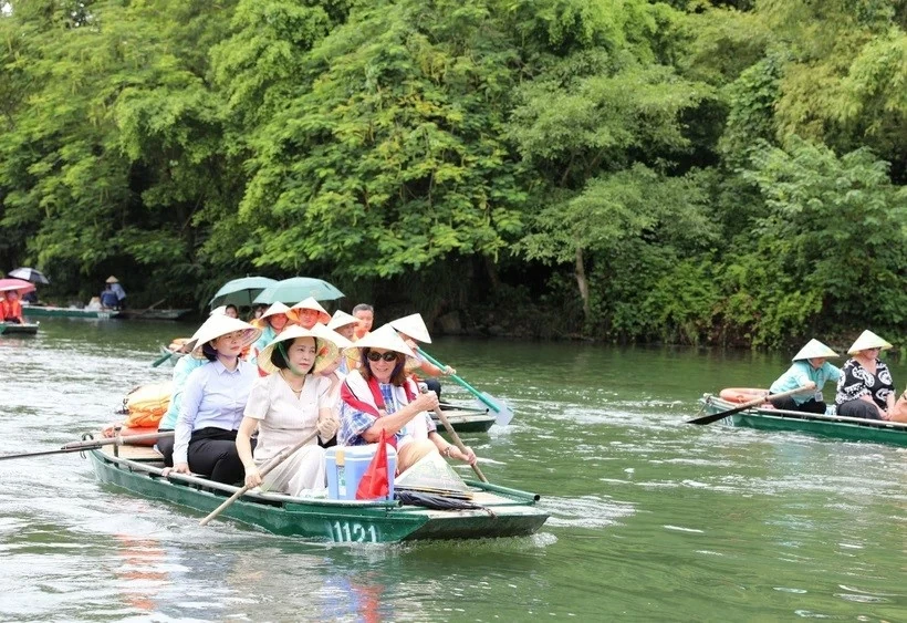
M 438 407 L 434 392 L 420 394 L 406 375 L 406 357 L 413 351 L 389 324 L 356 342 L 361 365 L 341 387 L 341 430 L 337 444 L 375 444 L 386 433 L 397 450 L 397 471 L 402 473 L 430 453 L 476 463 L 476 454 L 461 453 L 438 435 L 428 411 Z

